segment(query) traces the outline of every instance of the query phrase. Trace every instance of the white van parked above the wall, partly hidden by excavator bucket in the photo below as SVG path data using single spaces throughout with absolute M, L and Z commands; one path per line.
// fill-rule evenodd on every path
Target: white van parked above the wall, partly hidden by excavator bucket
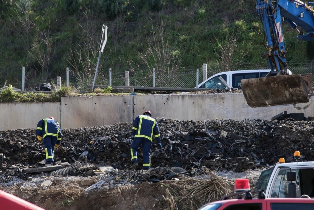
M 208 89 L 224 89 L 226 88 L 225 84 L 221 82 L 219 77 L 222 77 L 225 82 L 231 87 L 231 88 L 239 88 L 241 87 L 241 80 L 242 79 L 252 79 L 252 78 L 259 78 L 259 77 L 265 77 L 270 69 L 257 69 L 257 70 L 240 70 L 240 71 L 225 71 L 220 72 L 218 74 L 215 74 L 205 81 L 203 81 L 201 84 L 199 84 L 195 88 L 208 88 Z M 291 71 L 289 71 L 289 74 L 292 74 Z

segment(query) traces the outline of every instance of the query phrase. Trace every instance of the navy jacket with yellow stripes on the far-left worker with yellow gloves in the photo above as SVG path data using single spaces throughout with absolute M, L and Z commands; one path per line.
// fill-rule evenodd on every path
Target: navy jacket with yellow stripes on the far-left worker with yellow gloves
M 37 123 L 36 128 L 36 136 L 45 138 L 47 135 L 57 137 L 57 145 L 60 144 L 62 138 L 60 125 L 57 121 L 50 118 L 41 119 Z

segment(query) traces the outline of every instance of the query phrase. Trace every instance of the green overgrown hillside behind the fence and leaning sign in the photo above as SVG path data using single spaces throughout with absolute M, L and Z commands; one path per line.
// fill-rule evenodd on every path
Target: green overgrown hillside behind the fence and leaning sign
M 74 88 L 84 89 L 93 81 L 102 24 L 108 26 L 108 40 L 98 84 L 109 68 L 112 73 L 129 70 L 139 75 L 152 68 L 165 74 L 203 63 L 230 69 L 267 62 L 255 0 L 0 0 L 0 4 L 0 84 L 7 80 L 19 85 L 22 66 L 25 84 L 37 86 L 56 76 L 65 78 L 69 67 Z M 287 60 L 312 60 L 313 44 L 296 36 L 284 24 Z

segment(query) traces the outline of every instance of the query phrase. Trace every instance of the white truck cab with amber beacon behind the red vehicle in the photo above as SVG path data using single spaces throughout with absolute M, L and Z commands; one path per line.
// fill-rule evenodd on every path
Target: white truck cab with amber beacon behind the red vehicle
M 295 157 L 300 158 L 300 152 L 297 152 Z M 290 171 L 295 172 L 295 178 L 290 178 Z M 289 194 L 289 188 L 294 193 Z M 264 190 L 267 198 L 314 197 L 314 162 L 277 163 L 261 173 L 255 190 Z

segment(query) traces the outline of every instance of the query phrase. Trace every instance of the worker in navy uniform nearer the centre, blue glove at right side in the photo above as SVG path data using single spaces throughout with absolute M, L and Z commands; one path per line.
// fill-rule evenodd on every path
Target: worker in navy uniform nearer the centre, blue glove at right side
M 134 119 L 132 127 L 132 144 L 131 144 L 131 168 L 138 166 L 137 151 L 140 145 L 143 146 L 143 169 L 150 169 L 150 148 L 153 142 L 153 136 L 161 149 L 160 133 L 158 124 L 152 118 L 150 111 L 145 111 Z

